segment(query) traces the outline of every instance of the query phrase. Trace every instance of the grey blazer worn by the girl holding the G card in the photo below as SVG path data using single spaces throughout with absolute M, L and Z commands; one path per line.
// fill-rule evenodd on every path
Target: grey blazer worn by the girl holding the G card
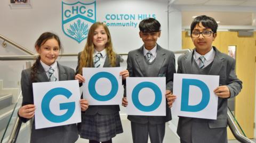
M 59 80 L 74 80 L 75 71 L 67 66 L 62 66 L 58 63 Z M 21 90 L 22 90 L 22 106 L 27 104 L 34 104 L 33 88 L 31 82 L 31 68 L 22 70 L 21 72 Z M 47 82 L 49 78 L 43 69 L 43 66 L 39 64 L 37 69 L 35 82 Z M 22 122 L 27 122 L 28 119 L 20 117 Z M 35 121 L 33 121 L 33 127 L 31 131 L 30 142 L 75 142 L 78 139 L 78 132 L 76 124 L 61 125 L 58 127 L 35 129 Z

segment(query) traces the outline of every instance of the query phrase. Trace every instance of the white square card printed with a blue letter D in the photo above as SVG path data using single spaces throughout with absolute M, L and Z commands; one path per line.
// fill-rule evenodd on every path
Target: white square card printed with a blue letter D
M 217 119 L 219 75 L 174 73 L 172 113 L 178 116 Z

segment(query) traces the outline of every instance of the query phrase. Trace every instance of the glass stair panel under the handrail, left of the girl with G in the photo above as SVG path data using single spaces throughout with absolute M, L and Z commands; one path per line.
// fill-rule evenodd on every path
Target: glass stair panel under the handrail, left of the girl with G
M 22 103 L 20 92 L 21 71 L 27 61 L 1 61 L 0 65 L 0 137 L 7 142 L 18 117 Z M 3 87 L 3 89 L 2 89 Z

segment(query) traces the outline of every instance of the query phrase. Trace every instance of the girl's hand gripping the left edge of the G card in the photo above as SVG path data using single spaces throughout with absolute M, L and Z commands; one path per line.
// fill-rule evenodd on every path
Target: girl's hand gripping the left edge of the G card
M 36 106 L 34 104 L 28 104 L 21 106 L 18 114 L 26 119 L 31 119 L 35 115 Z

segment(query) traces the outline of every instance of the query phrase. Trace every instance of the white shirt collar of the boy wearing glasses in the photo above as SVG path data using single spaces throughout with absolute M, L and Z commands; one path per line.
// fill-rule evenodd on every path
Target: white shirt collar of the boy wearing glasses
M 201 62 L 199 57 L 202 56 L 200 55 L 199 53 L 194 52 L 194 59 L 196 61 L 196 64 L 199 65 L 199 63 Z M 208 53 L 206 53 L 205 55 L 203 55 L 205 57 L 205 61 L 204 61 L 204 67 L 202 69 L 204 69 L 207 65 L 209 65 L 210 63 L 212 63 L 213 59 L 214 59 L 214 56 L 215 56 L 215 51 L 214 49 L 212 48 L 211 51 L 209 51 Z

